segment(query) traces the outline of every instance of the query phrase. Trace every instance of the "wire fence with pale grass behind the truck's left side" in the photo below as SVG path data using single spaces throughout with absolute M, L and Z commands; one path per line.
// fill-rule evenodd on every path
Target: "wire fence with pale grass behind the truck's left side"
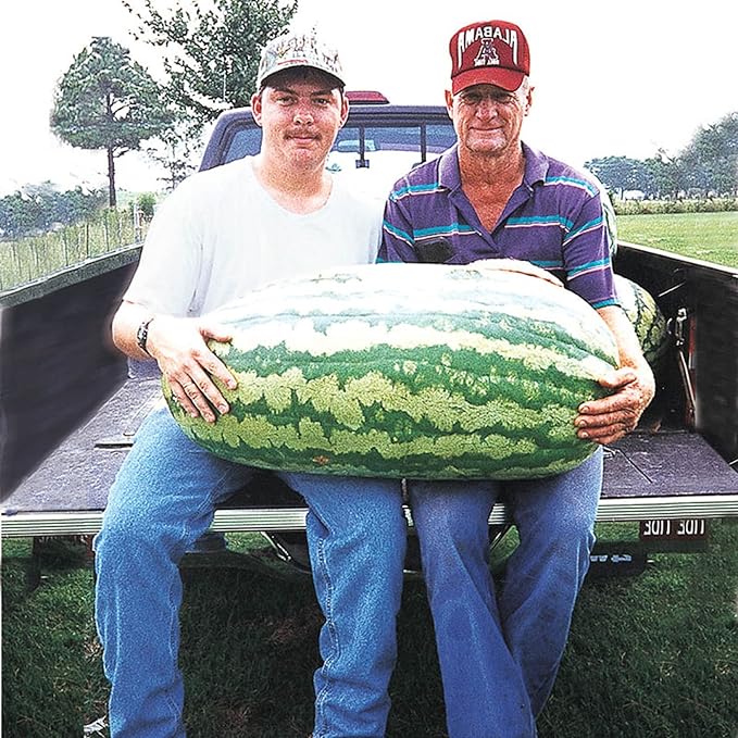
M 0 293 L 139 243 L 146 228 L 146 218 L 138 209 L 104 210 L 95 221 L 0 241 Z

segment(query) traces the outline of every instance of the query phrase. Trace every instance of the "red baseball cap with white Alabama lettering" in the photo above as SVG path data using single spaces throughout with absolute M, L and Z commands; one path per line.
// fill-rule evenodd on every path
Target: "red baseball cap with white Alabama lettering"
M 512 92 L 530 74 L 523 32 L 508 21 L 483 21 L 460 28 L 449 42 L 451 92 L 472 85 L 496 85 Z

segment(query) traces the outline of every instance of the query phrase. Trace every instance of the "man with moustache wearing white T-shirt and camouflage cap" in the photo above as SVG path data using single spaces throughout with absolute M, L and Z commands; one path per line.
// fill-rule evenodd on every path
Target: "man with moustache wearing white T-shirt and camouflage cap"
M 210 313 L 276 278 L 372 262 L 379 245 L 381 214 L 325 168 L 348 115 L 336 52 L 313 34 L 277 38 L 262 54 L 251 104 L 263 128 L 261 152 L 198 173 L 167 199 L 113 320 L 116 346 L 155 360 L 182 406 L 209 422 L 228 412 L 211 375 L 234 384 L 205 343 L 229 339 Z M 96 539 L 96 620 L 113 737 L 185 736 L 177 565 L 215 506 L 251 475 L 189 441 L 165 409 L 142 424 Z M 313 735 L 379 738 L 402 587 L 399 486 L 280 476 L 310 508 L 308 540 L 326 620 Z

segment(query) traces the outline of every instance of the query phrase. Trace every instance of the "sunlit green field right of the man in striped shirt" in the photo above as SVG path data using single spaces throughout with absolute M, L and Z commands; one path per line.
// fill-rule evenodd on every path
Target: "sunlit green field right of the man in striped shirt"
M 738 212 L 618 215 L 617 237 L 738 268 Z

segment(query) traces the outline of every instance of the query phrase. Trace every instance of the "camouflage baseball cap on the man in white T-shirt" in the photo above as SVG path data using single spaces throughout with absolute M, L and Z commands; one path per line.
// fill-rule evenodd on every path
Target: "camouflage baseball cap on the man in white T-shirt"
M 273 74 L 293 66 L 310 66 L 336 77 L 341 87 L 346 84 L 338 52 L 318 40 L 313 29 L 308 33 L 287 33 L 264 47 L 257 88 L 261 89 L 264 80 Z

